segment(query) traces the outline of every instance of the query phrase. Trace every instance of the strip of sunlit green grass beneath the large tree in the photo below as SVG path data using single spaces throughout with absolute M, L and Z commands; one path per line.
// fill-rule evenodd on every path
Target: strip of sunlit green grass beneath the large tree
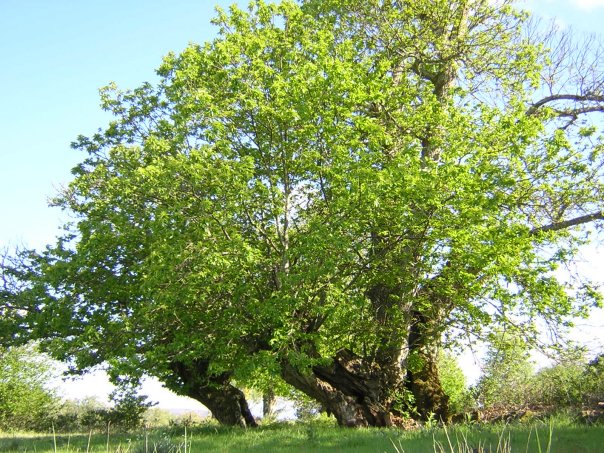
M 343 429 L 331 421 L 274 423 L 258 429 L 208 424 L 190 432 L 53 435 L 5 433 L 1 452 L 196 453 L 196 452 L 435 452 L 582 453 L 602 451 L 604 426 L 570 422 L 469 426 L 418 431 Z

